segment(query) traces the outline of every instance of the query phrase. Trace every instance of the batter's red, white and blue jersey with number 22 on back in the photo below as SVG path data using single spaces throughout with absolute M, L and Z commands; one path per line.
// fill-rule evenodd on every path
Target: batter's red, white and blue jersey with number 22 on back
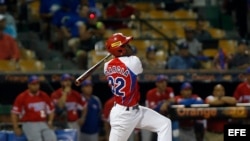
M 117 104 L 134 106 L 139 103 L 137 75 L 142 71 L 142 64 L 137 56 L 118 57 L 104 64 L 104 74 Z

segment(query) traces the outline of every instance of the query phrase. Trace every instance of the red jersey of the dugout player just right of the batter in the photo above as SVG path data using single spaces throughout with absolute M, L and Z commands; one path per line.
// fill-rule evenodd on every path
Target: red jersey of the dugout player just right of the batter
M 153 88 L 147 92 L 146 106 L 154 109 L 163 100 L 174 98 L 174 91 L 171 87 L 167 87 L 164 93 L 159 93 L 157 88 Z

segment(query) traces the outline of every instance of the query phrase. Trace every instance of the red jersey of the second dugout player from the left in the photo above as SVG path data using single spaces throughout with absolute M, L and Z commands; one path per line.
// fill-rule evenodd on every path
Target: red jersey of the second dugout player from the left
M 58 99 L 60 99 L 61 96 L 62 88 L 59 88 L 51 95 L 54 103 L 57 103 Z M 79 118 L 77 110 L 82 110 L 86 106 L 86 101 L 83 100 L 79 92 L 71 90 L 71 92 L 67 95 L 65 106 L 67 109 L 67 120 L 76 121 Z

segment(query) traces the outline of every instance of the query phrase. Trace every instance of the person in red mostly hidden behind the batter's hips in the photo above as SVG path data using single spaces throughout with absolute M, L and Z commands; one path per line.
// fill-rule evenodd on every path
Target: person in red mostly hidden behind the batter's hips
M 104 128 L 105 128 L 105 141 L 109 140 L 109 133 L 110 133 L 110 119 L 109 119 L 109 114 L 110 111 L 112 109 L 112 107 L 115 104 L 115 100 L 114 97 L 112 96 L 111 98 L 109 98 L 105 103 L 104 103 L 104 107 L 103 107 L 103 113 L 102 113 L 102 119 L 104 122 Z M 128 141 L 138 141 L 137 140 L 137 132 L 136 130 L 134 130 L 134 132 L 129 136 Z

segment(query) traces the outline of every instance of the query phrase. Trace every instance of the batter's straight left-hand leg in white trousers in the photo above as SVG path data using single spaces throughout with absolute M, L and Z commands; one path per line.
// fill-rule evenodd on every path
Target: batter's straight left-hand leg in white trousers
M 110 112 L 111 131 L 109 141 L 127 141 L 140 120 L 138 110 L 126 111 L 125 108 L 116 105 Z

